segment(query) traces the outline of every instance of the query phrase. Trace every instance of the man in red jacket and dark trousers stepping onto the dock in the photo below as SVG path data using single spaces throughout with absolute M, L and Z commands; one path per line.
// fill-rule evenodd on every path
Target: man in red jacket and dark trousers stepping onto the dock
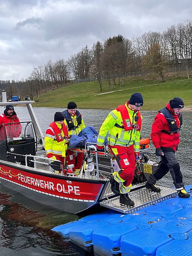
M 185 190 L 183 176 L 175 156 L 180 142 L 179 131 L 182 125 L 181 110 L 183 108 L 183 100 L 175 97 L 154 118 L 151 140 L 156 148 L 155 154 L 161 157 L 161 161 L 157 169 L 149 176 L 145 187 L 153 192 L 160 192 L 160 188 L 155 183 L 170 171 L 178 196 L 189 198 L 190 195 Z

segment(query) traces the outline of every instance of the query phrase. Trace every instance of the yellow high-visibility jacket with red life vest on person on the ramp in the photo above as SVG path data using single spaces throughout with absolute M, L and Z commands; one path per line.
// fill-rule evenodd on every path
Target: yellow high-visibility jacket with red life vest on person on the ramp
M 98 139 L 97 145 L 103 146 L 105 141 L 105 136 L 108 133 L 108 145 L 119 145 L 123 147 L 129 147 L 134 144 L 134 151 L 140 151 L 140 132 L 142 126 L 142 115 L 138 115 L 138 111 L 135 111 L 128 107 L 128 102 L 125 103 L 125 106 L 128 111 L 128 115 L 130 117 L 132 125 L 136 125 L 136 128 L 133 128 L 130 131 L 125 131 L 124 128 L 120 128 L 123 124 L 122 115 L 118 108 L 112 110 L 105 121 L 103 122 Z M 135 121 L 135 116 L 139 117 L 137 121 Z M 115 125 L 119 127 L 116 127 Z

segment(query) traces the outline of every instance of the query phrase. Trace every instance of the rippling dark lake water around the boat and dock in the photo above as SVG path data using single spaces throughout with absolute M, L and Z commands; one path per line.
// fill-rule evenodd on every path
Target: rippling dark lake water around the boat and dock
M 0 113 L 4 108 L 0 107 Z M 20 121 L 29 121 L 25 107 L 15 107 Z M 34 108 L 35 114 L 45 133 L 53 121 L 56 111 L 61 108 Z M 85 125 L 93 125 L 97 131 L 110 110 L 80 110 Z M 149 137 L 151 124 L 156 111 L 141 111 L 143 115 L 142 137 Z M 191 146 L 192 146 L 192 112 L 183 111 L 183 130 L 180 133 L 180 145 L 177 158 L 180 162 L 183 180 L 186 185 L 192 184 Z M 151 150 L 153 146 L 151 145 Z M 172 186 L 168 174 L 159 182 Z M 80 247 L 64 241 L 51 231 L 52 227 L 79 216 L 59 212 L 37 204 L 22 195 L 0 186 L 0 256 L 86 256 L 90 255 Z

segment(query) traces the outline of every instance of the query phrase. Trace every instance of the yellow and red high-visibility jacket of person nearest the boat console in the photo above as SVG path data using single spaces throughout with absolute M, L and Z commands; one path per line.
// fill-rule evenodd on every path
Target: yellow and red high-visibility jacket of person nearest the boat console
M 66 131 L 64 131 L 64 128 L 62 129 L 62 125 L 58 124 L 58 122 L 55 122 L 55 125 L 58 127 L 59 132 L 57 129 L 52 128 L 49 126 L 45 133 L 45 151 L 48 158 L 51 158 L 53 155 L 59 155 L 62 157 L 65 157 L 65 152 L 67 150 L 67 144 L 66 144 L 66 137 L 67 135 L 67 127 L 64 127 Z M 63 124 L 65 125 L 65 124 Z M 65 134 L 64 134 L 65 133 Z M 63 138 L 61 141 L 57 141 L 57 136 Z

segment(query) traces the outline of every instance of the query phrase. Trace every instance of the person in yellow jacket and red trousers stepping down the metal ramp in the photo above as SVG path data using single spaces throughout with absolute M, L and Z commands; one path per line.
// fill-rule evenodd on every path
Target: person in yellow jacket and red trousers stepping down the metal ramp
M 105 136 L 108 133 L 108 148 L 113 153 L 119 168 L 119 172 L 113 172 L 111 176 L 111 190 L 119 194 L 119 202 L 134 206 L 128 193 L 134 178 L 136 159 L 140 155 L 140 132 L 142 127 L 142 115 L 140 108 L 143 106 L 141 93 L 133 93 L 125 105 L 111 111 L 103 122 L 97 139 L 97 149 L 102 149 Z

